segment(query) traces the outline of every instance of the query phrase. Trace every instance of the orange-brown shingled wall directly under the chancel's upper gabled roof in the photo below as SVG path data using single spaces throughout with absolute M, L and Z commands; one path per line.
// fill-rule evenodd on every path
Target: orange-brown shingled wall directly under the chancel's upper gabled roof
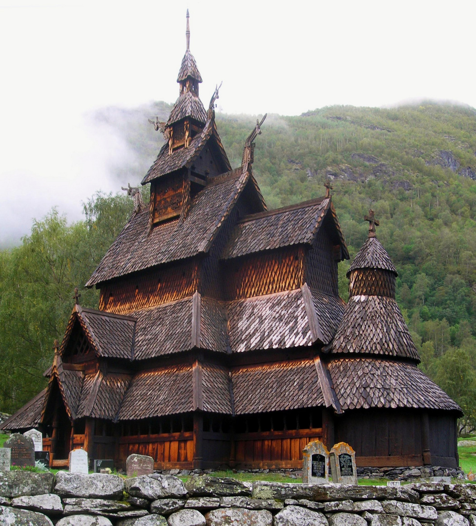
M 303 285 L 303 250 L 273 250 L 229 260 L 223 272 L 226 299 L 242 299 L 298 289 Z

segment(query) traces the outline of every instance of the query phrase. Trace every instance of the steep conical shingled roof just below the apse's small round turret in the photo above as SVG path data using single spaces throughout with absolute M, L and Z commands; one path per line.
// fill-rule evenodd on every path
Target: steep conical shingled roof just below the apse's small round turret
M 420 361 L 394 298 L 353 296 L 332 343 L 332 353 L 362 353 Z

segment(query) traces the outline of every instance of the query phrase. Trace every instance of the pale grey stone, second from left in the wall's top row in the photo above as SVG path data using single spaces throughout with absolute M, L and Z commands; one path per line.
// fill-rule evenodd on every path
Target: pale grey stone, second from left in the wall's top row
M 86 499 L 120 499 L 124 492 L 124 481 L 117 475 L 105 473 L 56 473 L 55 493 L 60 497 L 82 497 Z

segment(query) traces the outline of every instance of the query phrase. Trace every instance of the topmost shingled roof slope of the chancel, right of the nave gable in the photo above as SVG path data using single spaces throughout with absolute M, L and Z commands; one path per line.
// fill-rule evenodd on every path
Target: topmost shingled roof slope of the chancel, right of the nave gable
M 311 244 L 330 206 L 330 199 L 320 198 L 246 216 L 235 227 L 223 252 L 223 258 L 236 258 L 291 245 Z M 340 231 L 338 223 L 336 227 Z

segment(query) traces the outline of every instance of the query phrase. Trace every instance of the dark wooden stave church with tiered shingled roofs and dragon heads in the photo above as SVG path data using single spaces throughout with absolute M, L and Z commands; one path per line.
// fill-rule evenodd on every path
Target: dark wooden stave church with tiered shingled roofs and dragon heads
M 351 265 L 332 198 L 268 211 L 256 128 L 232 169 L 187 49 L 166 139 L 140 204 L 71 313 L 47 388 L 0 427 L 41 429 L 51 463 L 149 454 L 157 469 L 300 468 L 306 443 L 344 441 L 358 466 L 458 467 L 461 409 L 418 368 L 375 237 Z M 264 119 L 263 119 L 264 120 Z

